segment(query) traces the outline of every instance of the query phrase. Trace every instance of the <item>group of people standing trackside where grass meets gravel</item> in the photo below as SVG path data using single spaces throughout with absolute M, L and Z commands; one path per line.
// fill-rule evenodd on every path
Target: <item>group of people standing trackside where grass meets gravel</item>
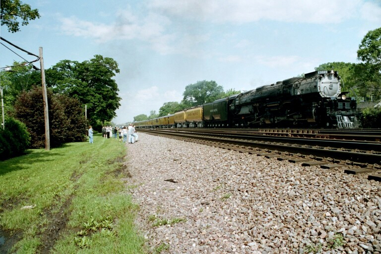
M 88 130 L 88 136 L 89 136 L 89 142 L 90 144 L 94 143 L 93 139 L 93 128 L 89 126 Z M 133 144 L 137 141 L 138 135 L 136 134 L 135 126 L 132 124 L 129 124 L 128 127 L 111 127 L 111 126 L 103 126 L 102 127 L 102 136 L 104 138 L 110 138 L 110 135 L 112 134 L 113 137 L 117 138 L 119 133 L 119 142 L 127 142 L 127 135 L 128 135 L 128 143 Z

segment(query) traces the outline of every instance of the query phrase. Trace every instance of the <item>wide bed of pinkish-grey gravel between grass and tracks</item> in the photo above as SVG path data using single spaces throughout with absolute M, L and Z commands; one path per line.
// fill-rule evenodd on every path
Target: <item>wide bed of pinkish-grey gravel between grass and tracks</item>
M 381 184 L 139 133 L 126 188 L 152 253 L 381 253 Z

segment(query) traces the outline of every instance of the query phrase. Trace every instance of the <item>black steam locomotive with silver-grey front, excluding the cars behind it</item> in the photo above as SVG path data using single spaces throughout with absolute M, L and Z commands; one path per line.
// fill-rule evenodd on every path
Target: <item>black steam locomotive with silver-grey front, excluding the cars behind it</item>
M 233 126 L 357 126 L 357 103 L 341 92 L 337 71 L 314 71 L 237 95 L 230 105 Z

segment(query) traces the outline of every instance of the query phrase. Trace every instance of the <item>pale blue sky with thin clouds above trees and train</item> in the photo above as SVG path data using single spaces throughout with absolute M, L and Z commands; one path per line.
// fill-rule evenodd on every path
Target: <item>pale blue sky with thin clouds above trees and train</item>
M 381 27 L 381 0 L 22 2 L 41 17 L 16 33 L 1 26 L 1 37 L 35 55 L 42 47 L 45 68 L 95 55 L 119 64 L 115 124 L 180 102 L 197 81 L 247 91 L 320 64 L 359 63 L 361 40 Z M 22 59 L 0 45 L 0 67 L 13 61 Z

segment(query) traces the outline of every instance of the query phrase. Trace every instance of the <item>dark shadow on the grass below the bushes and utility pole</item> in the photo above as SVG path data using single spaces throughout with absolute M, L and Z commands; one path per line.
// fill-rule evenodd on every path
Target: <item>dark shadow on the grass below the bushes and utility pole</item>
M 59 153 L 59 150 L 27 150 L 24 155 L 0 161 L 0 175 L 16 170 L 27 169 L 34 163 L 54 161 L 58 156 L 63 156 Z

